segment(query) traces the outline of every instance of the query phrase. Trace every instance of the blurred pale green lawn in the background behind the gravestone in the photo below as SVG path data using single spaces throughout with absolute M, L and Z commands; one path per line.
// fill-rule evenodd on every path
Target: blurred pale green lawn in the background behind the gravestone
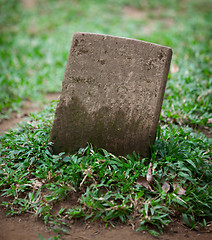
M 0 117 L 61 91 L 74 32 L 169 46 L 161 120 L 211 126 L 212 1 L 0 0 Z

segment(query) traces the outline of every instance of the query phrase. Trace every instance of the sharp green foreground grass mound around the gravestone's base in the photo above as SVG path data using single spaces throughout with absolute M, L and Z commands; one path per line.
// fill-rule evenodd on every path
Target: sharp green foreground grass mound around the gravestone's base
M 191 228 L 210 224 L 211 142 L 203 134 L 164 125 L 151 159 L 135 153 L 117 157 L 92 146 L 54 156 L 48 143 L 54 111 L 55 104 L 1 137 L 0 186 L 2 196 L 9 197 L 3 202 L 8 213 L 30 212 L 56 229 L 80 217 L 140 223 L 138 230 L 155 235 L 182 214 Z M 145 180 L 150 162 L 151 184 Z M 165 182 L 169 191 L 163 190 Z M 57 202 L 74 195 L 70 208 L 53 212 Z

